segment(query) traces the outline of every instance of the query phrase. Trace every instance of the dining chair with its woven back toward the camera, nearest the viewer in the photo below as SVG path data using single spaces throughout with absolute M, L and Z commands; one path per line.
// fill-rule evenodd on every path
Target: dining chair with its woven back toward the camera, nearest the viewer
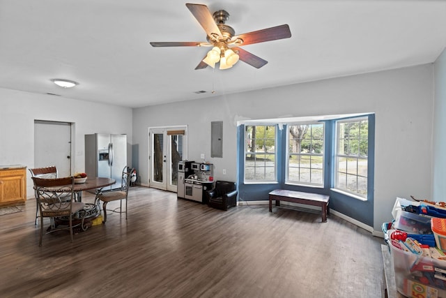
M 70 230 L 71 241 L 72 238 L 72 218 L 73 215 L 84 209 L 85 204 L 83 202 L 75 202 L 75 178 L 74 177 L 64 177 L 64 178 L 54 178 L 45 179 L 32 177 L 34 182 L 34 189 L 36 190 L 36 200 L 38 202 L 38 207 L 40 211 L 40 239 L 39 246 L 42 246 L 43 237 L 43 218 L 47 217 L 51 220 L 51 227 L 47 231 L 54 232 L 58 230 Z M 61 196 L 61 194 L 70 195 L 70 200 L 65 200 L 66 196 Z M 64 198 L 63 200 L 61 198 Z M 84 217 L 86 212 L 82 212 L 83 216 L 81 222 L 78 225 L 84 226 Z M 68 220 L 68 227 L 63 225 L 59 228 L 59 225 L 55 224 L 57 218 L 62 218 L 63 220 Z

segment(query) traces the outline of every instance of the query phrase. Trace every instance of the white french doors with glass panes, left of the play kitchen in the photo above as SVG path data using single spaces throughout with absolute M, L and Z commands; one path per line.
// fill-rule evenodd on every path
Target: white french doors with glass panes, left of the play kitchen
M 178 161 L 187 159 L 186 126 L 149 128 L 150 187 L 176 192 Z

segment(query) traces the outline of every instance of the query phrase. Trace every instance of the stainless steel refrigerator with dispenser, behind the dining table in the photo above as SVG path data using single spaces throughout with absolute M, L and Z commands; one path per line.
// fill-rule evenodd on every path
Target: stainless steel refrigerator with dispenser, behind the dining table
M 108 177 L 121 187 L 123 168 L 127 165 L 127 135 L 93 133 L 85 135 L 85 172 L 89 177 Z

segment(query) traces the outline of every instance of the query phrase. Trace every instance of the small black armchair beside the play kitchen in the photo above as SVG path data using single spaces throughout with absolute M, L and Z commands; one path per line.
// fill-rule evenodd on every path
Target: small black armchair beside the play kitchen
M 237 205 L 237 185 L 230 181 L 216 181 L 215 188 L 206 191 L 208 206 L 227 210 Z

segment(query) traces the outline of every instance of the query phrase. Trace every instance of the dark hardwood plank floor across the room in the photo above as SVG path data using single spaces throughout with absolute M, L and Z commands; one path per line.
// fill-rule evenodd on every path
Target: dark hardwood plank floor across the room
M 127 221 L 39 247 L 35 208 L 0 216 L 0 297 L 381 297 L 383 239 L 333 215 L 220 211 L 137 186 Z

